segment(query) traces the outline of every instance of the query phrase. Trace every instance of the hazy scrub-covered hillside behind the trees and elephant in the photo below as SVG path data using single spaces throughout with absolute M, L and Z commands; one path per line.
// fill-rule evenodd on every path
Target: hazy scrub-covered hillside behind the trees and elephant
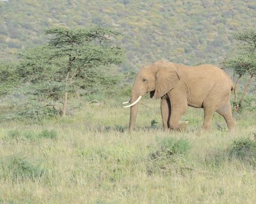
M 220 63 L 232 34 L 255 26 L 256 1 L 0 1 L 0 59 L 45 42 L 44 29 L 102 24 L 127 34 L 123 69 L 158 59 Z

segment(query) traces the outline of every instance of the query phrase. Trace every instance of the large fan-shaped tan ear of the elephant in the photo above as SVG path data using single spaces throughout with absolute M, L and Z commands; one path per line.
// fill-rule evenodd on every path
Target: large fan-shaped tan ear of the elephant
M 180 72 L 175 67 L 162 66 L 159 68 L 159 71 L 156 73 L 156 89 L 154 98 L 160 98 L 172 90 L 180 80 L 179 75 Z

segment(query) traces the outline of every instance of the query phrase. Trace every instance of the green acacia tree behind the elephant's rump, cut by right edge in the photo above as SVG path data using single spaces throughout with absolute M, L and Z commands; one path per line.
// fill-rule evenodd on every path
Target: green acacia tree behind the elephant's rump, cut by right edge
M 246 92 L 256 76 L 256 29 L 246 29 L 234 34 L 234 40 L 238 45 L 234 49 L 232 57 L 228 57 L 223 61 L 224 68 L 231 68 L 237 79 L 234 87 L 234 111 L 237 112 L 241 108 Z M 244 87 L 241 98 L 238 99 L 238 84 L 243 76 L 249 76 Z

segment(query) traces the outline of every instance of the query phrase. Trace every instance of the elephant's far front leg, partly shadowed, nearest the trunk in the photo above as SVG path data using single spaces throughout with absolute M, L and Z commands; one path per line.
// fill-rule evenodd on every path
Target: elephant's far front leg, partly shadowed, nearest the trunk
M 167 96 L 161 98 L 161 113 L 164 130 L 170 128 L 171 103 Z

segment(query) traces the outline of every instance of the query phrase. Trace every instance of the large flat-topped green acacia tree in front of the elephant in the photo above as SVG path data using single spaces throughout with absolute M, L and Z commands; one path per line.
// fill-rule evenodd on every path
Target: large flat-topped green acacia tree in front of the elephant
M 124 61 L 124 50 L 116 43 L 124 35 L 100 26 L 55 27 L 47 29 L 45 34 L 51 36 L 47 45 L 20 54 L 19 73 L 24 82 L 33 84 L 34 94 L 61 101 L 61 113 L 65 116 L 68 92 L 77 94 L 77 87 L 104 80 L 106 75 L 100 66 Z

